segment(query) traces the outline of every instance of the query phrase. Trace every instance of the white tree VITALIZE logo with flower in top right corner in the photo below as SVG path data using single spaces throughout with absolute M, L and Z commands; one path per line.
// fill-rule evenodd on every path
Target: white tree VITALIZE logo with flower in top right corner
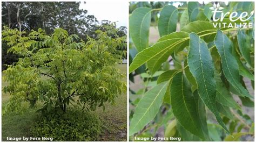
M 238 15 L 238 12 L 226 12 L 224 13 L 222 10 L 224 8 L 220 7 L 218 4 L 213 4 L 213 7 L 210 8 L 213 10 L 213 26 L 216 28 L 252 28 L 253 23 L 248 20 L 254 15 L 254 10 L 248 15 L 248 12 L 244 11 Z M 220 17 L 216 18 L 217 13 L 220 13 Z M 223 22 L 223 19 L 229 16 L 230 22 Z M 239 20 L 239 22 L 236 22 Z

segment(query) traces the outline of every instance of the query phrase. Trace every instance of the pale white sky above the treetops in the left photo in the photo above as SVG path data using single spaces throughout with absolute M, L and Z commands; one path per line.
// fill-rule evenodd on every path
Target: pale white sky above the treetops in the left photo
M 99 22 L 110 20 L 117 22 L 117 27 L 126 26 L 129 16 L 129 4 L 126 1 L 80 1 L 80 8 L 87 10 L 87 15 L 94 15 Z

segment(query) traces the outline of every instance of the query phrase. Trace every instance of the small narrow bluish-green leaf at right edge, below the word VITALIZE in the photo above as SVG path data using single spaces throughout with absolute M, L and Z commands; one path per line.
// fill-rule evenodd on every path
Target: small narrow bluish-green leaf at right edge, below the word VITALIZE
M 250 44 L 251 39 L 245 34 L 245 31 L 241 31 L 240 29 L 237 32 L 237 42 L 238 47 L 242 56 L 245 58 L 246 62 L 252 67 L 251 55 L 250 55 Z

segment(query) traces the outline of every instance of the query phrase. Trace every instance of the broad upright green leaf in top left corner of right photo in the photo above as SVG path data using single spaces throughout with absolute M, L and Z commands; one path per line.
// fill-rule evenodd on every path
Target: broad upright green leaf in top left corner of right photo
M 149 47 L 150 23 L 151 9 L 149 8 L 138 8 L 134 10 L 130 16 L 130 35 L 138 52 Z

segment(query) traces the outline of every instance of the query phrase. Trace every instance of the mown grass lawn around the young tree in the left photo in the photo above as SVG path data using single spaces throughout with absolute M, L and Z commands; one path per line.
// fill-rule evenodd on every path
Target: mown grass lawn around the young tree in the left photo
M 126 74 L 126 64 L 118 66 L 120 70 Z M 124 78 L 126 81 L 126 78 Z M 2 82 L 2 87 L 8 83 Z M 8 102 L 9 95 L 2 93 L 2 111 Z M 98 108 L 93 113 L 103 121 L 103 133 L 99 141 L 126 141 L 127 134 L 127 97 L 126 94 L 120 95 L 116 99 L 115 105 L 105 103 L 105 112 L 102 108 Z M 36 118 L 40 116 L 35 113 L 39 108 L 29 109 L 27 102 L 22 103 L 22 112 L 8 112 L 2 116 L 2 141 L 6 141 L 6 137 L 30 137 L 30 127 L 35 122 Z

